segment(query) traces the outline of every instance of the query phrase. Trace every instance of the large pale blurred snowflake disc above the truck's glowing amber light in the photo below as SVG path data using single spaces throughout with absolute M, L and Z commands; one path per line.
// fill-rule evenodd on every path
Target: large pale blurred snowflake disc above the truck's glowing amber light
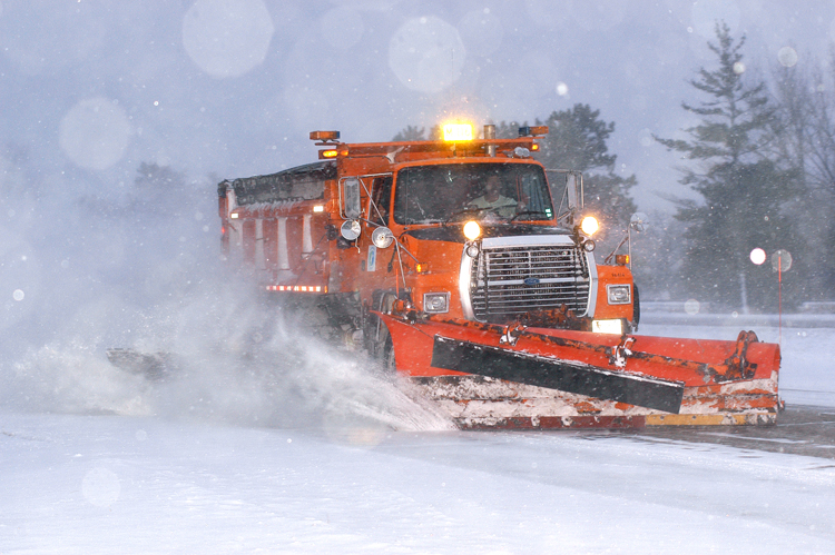
M 406 21 L 389 42 L 389 67 L 420 92 L 440 92 L 455 82 L 465 56 L 458 30 L 436 17 Z

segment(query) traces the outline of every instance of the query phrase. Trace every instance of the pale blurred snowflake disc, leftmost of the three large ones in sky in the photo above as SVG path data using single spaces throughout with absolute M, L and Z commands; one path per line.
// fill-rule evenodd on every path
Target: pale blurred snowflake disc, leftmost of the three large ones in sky
M 59 143 L 77 166 L 102 170 L 118 162 L 130 138 L 125 110 L 96 97 L 81 100 L 61 120 Z

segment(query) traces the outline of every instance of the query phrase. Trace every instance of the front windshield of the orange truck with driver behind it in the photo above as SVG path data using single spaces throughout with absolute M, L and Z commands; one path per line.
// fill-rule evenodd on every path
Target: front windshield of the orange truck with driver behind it
M 397 172 L 394 221 L 436 224 L 553 219 L 542 168 L 533 163 L 446 163 Z

